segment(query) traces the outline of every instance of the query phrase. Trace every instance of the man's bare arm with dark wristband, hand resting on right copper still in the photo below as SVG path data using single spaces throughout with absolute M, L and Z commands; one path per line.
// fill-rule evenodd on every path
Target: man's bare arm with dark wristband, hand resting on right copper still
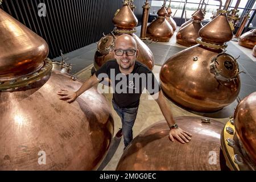
M 152 97 L 158 103 L 158 105 L 164 115 L 164 118 L 166 118 L 168 126 L 173 126 L 175 124 L 175 121 L 172 116 L 170 106 L 168 106 L 166 99 L 163 96 L 162 90 L 160 90 L 157 94 L 154 94 Z M 191 137 L 192 135 L 190 133 L 188 133 L 187 131 L 184 131 L 180 128 L 171 129 L 170 133 L 169 133 L 169 137 L 172 140 L 172 142 L 174 141 L 174 137 L 175 137 L 181 143 L 185 143 L 185 142 L 188 143 L 189 140 L 191 140 L 191 138 L 189 136 Z

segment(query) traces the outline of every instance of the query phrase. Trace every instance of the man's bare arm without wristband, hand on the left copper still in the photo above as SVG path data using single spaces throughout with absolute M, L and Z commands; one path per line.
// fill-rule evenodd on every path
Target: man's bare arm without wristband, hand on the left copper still
M 66 102 L 72 102 L 75 101 L 76 98 L 79 97 L 86 90 L 92 88 L 92 86 L 97 84 L 97 82 L 99 81 L 100 80 L 98 80 L 98 78 L 94 74 L 89 78 L 89 80 L 85 81 L 84 84 L 82 84 L 82 86 L 76 92 L 61 89 L 59 92 L 57 92 L 57 94 L 61 96 L 60 99 L 68 99 Z

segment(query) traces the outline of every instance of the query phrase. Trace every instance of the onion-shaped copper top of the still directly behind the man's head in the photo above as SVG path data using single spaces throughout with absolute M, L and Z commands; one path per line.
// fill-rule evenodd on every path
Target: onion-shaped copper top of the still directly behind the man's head
M 118 29 L 128 30 L 133 30 L 133 28 L 138 25 L 138 19 L 130 9 L 127 0 L 123 3 L 123 7 L 119 12 L 114 16 L 113 23 Z

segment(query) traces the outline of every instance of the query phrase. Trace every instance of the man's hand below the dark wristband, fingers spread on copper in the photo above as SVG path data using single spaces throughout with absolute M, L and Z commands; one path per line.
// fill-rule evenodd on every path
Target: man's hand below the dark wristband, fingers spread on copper
M 187 131 L 184 131 L 184 130 L 181 130 L 180 128 L 178 128 L 178 129 L 171 129 L 171 131 L 169 133 L 169 137 L 172 142 L 174 142 L 174 137 L 175 137 L 181 143 L 185 143 L 185 142 L 188 143 L 189 140 L 191 140 L 190 137 L 192 137 L 192 135 L 190 133 L 188 133 Z

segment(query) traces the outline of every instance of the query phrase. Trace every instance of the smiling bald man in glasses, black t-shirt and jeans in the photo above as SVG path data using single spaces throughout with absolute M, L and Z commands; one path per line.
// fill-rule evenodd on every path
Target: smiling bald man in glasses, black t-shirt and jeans
M 175 123 L 154 74 L 146 65 L 136 61 L 138 52 L 137 43 L 132 36 L 127 34 L 118 36 L 114 46 L 115 60 L 107 61 L 102 65 L 76 92 L 61 89 L 58 92 L 62 96 L 60 99 L 68 99 L 67 102 L 72 102 L 97 82 L 110 79 L 114 88 L 112 104 L 122 121 L 122 129 L 115 136 L 123 135 L 126 148 L 133 139 L 133 125 L 138 113 L 139 98 L 146 88 L 166 118 L 170 127 L 170 139 L 174 141 L 175 137 L 181 143 L 189 142 L 192 135 L 180 129 Z

